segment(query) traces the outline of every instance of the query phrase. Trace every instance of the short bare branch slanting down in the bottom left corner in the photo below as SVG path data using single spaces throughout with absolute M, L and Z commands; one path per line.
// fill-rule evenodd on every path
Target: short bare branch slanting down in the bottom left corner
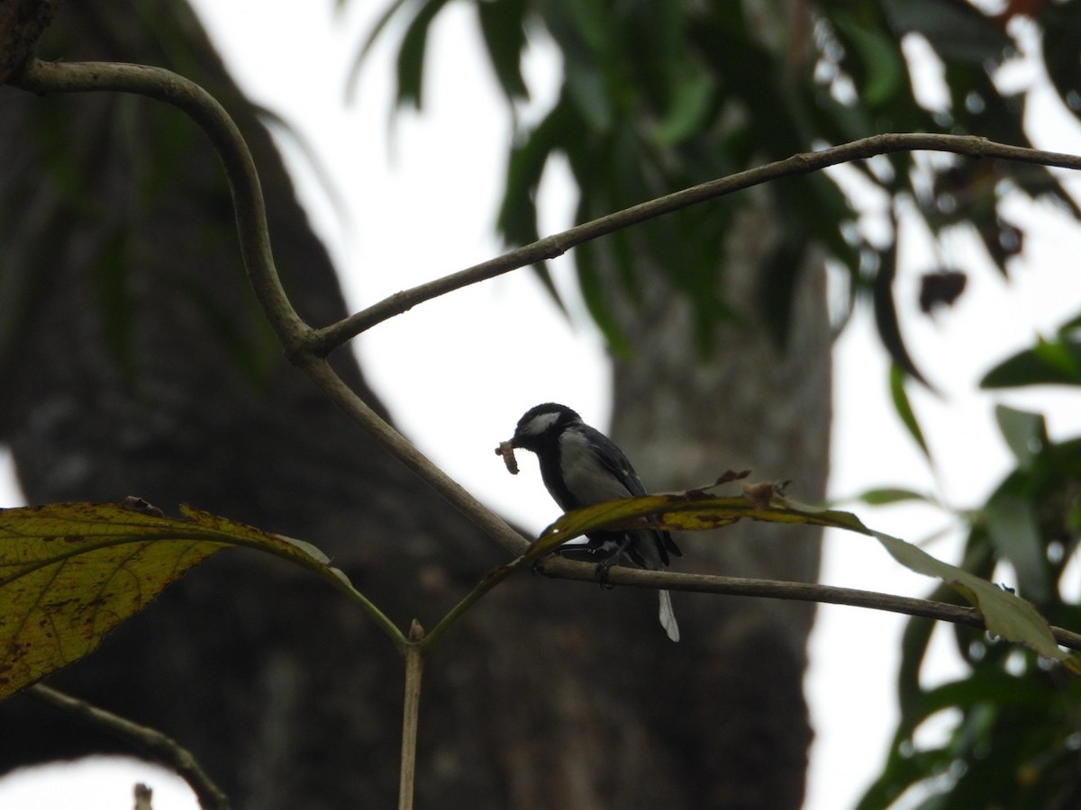
M 125 740 L 141 754 L 172 768 L 195 792 L 203 810 L 229 810 L 229 797 L 206 775 L 191 752 L 172 738 L 43 684 L 31 686 L 27 693 Z

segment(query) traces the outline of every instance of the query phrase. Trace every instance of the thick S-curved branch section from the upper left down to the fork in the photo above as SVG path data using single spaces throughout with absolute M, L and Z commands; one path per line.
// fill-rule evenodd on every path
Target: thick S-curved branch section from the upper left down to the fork
M 10 83 L 31 93 L 133 93 L 165 102 L 187 113 L 206 133 L 225 168 L 244 268 L 285 353 L 292 355 L 306 342 L 312 329 L 293 309 L 275 268 L 263 187 L 252 153 L 237 124 L 214 96 L 171 70 L 112 62 L 31 59 Z

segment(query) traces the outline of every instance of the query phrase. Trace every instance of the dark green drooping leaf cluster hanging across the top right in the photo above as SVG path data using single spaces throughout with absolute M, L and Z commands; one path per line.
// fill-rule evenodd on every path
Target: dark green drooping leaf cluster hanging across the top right
M 344 0 L 343 0 L 344 1 Z M 371 41 L 404 31 L 398 102 L 423 103 L 426 44 L 446 0 L 397 0 Z M 473 0 L 493 72 L 513 107 L 528 96 L 522 54 L 544 31 L 562 57 L 558 100 L 519 126 L 507 162 L 499 229 L 510 243 L 537 239 L 536 191 L 555 156 L 566 158 L 582 221 L 659 194 L 790 154 L 884 132 L 950 132 L 1030 145 L 1023 95 L 996 71 L 1016 56 L 1035 24 L 1047 71 L 1064 103 L 1081 111 L 1076 58 L 1081 2 L 1007 3 L 997 16 L 965 0 L 853 0 L 840 3 L 649 3 L 638 0 Z M 1022 15 L 1029 15 L 1024 17 Z M 945 98 L 913 89 L 906 48 L 922 43 L 945 79 Z M 365 49 L 366 51 L 366 49 Z M 933 71 L 932 71 L 933 72 Z M 854 164 L 889 200 L 893 232 L 876 241 L 854 227 L 857 212 L 835 179 L 776 184 L 780 238 L 765 262 L 759 312 L 784 338 L 800 259 L 812 247 L 848 270 L 850 303 L 866 292 L 895 363 L 919 378 L 897 323 L 896 212 L 902 203 L 929 231 L 973 229 L 1002 273 L 1024 233 L 1000 212 L 1006 193 L 1049 198 L 1079 215 L 1041 166 L 925 160 L 895 154 Z M 606 247 L 633 295 L 648 258 L 684 292 L 699 334 L 731 310 L 718 297 L 725 234 L 740 200 L 725 199 L 612 235 Z M 611 346 L 624 346 L 598 271 L 598 247 L 575 251 L 578 281 Z M 921 306 L 949 302 L 969 267 L 926 268 Z M 542 268 L 542 272 L 544 269 Z

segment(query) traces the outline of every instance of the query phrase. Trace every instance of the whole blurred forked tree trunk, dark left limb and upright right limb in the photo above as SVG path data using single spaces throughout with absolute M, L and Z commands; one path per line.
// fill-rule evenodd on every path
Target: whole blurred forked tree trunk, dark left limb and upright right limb
M 40 55 L 158 64 L 211 90 L 252 146 L 297 309 L 316 324 L 344 314 L 271 140 L 184 4 L 69 0 Z M 0 105 L 0 436 L 31 502 L 138 495 L 301 537 L 402 624 L 432 621 L 504 561 L 283 361 L 245 286 L 217 159 L 179 113 L 10 89 Z M 656 302 L 643 352 L 616 374 L 619 441 L 665 470 L 648 483 L 747 465 L 815 497 L 820 284 L 795 359 L 732 327 L 710 363 L 692 363 L 679 302 Z M 742 537 L 724 572 L 813 576 L 812 545 Z M 720 548 L 696 542 L 693 556 Z M 497 589 L 426 667 L 418 806 L 798 807 L 810 611 L 677 595 L 684 642 L 668 645 L 655 609 L 629 589 Z M 319 810 L 391 806 L 401 675 L 323 583 L 229 552 L 50 684 L 173 735 L 238 807 Z M 0 724 L 3 770 L 123 751 L 23 697 L 0 704 Z

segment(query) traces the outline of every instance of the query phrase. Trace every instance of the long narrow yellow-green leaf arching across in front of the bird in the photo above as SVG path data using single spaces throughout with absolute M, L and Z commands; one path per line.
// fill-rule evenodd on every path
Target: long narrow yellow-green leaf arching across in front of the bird
M 745 485 L 744 491 L 771 485 Z M 597 503 L 568 512 L 549 526 L 523 557 L 528 563 L 555 551 L 568 540 L 600 529 L 650 528 L 668 531 L 702 531 L 729 526 L 740 519 L 792 525 L 826 526 L 855 531 L 877 539 L 906 568 L 936 577 L 960 593 L 979 612 L 988 632 L 1007 642 L 1023 644 L 1044 658 L 1058 661 L 1081 675 L 1081 661 L 1059 649 L 1047 622 L 1028 602 L 985 579 L 927 554 L 911 543 L 867 528 L 851 512 L 799 504 L 777 495 L 765 503 L 756 496 L 715 497 L 696 489 L 678 495 Z

